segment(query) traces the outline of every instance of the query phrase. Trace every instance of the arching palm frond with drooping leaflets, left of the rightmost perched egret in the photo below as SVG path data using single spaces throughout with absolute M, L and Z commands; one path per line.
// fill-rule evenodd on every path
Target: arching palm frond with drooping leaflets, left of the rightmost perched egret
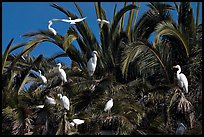
M 151 45 L 144 40 L 138 40 L 137 42 L 128 44 L 124 48 L 121 61 L 122 74 L 126 78 L 130 64 L 135 64 L 135 66 L 138 66 L 137 69 L 131 69 L 131 72 L 139 71 L 139 74 L 146 74 L 147 71 L 145 70 L 148 69 L 150 71 L 150 68 L 161 65 L 164 75 L 166 76 L 166 80 L 169 81 L 166 67 L 161 60 L 159 52 L 153 49 Z

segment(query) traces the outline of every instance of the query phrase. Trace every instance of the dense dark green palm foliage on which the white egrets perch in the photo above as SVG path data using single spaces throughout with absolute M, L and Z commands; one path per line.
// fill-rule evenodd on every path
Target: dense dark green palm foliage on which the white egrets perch
M 12 39 L 2 56 L 2 134 L 175 134 L 178 122 L 186 125 L 185 134 L 202 134 L 200 3 L 194 17 L 190 2 L 150 2 L 138 18 L 140 4 L 125 2 L 119 11 L 115 5 L 110 24 L 98 25 L 100 41 L 86 21 L 69 27 L 64 36 L 41 30 L 24 34 L 30 38 L 25 43 L 12 45 Z M 59 5 L 51 6 L 67 18 L 85 17 L 77 3 L 80 16 Z M 101 3 L 94 6 L 97 18 L 108 20 Z M 171 17 L 173 10 L 178 20 Z M 31 57 L 30 52 L 42 42 L 54 43 L 63 52 L 51 58 Z M 21 53 L 12 54 L 20 47 Z M 87 62 L 93 50 L 99 57 L 90 77 Z M 55 61 L 64 56 L 72 61 L 71 66 L 62 65 L 66 83 L 61 81 Z M 187 94 L 177 87 L 172 68 L 177 64 L 188 79 Z M 41 70 L 47 84 L 31 70 Z M 59 93 L 69 98 L 69 111 L 62 107 Z M 46 96 L 54 98 L 56 105 L 47 104 Z M 109 116 L 103 109 L 110 98 L 114 105 Z M 43 104 L 43 108 L 37 107 Z M 71 126 L 74 118 L 85 123 Z

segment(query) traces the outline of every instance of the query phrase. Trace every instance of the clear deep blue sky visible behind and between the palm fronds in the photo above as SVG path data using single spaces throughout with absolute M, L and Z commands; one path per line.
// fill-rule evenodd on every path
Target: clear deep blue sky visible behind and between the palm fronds
M 50 6 L 50 4 L 56 3 L 65 9 L 80 16 L 73 2 L 2 2 L 2 52 L 4 52 L 11 38 L 14 38 L 13 44 L 26 42 L 28 38 L 21 37 L 21 35 L 27 32 L 35 32 L 38 30 L 46 30 L 48 20 L 52 18 L 66 18 L 65 14 L 59 10 Z M 102 2 L 102 6 L 106 11 L 108 19 L 111 21 L 113 16 L 113 9 L 117 3 L 117 10 L 120 10 L 123 2 Z M 93 2 L 77 2 L 82 9 L 84 15 L 87 17 L 86 21 L 94 32 L 96 38 L 99 38 L 99 28 L 96 21 L 96 13 Z M 148 10 L 146 6 L 147 2 L 140 2 L 139 17 Z M 173 3 L 170 3 L 173 5 Z M 196 13 L 196 2 L 191 3 L 194 14 Z M 202 22 L 202 3 L 200 8 L 200 22 Z M 176 12 L 173 13 L 173 17 L 176 17 Z M 69 23 L 56 23 L 52 25 L 55 30 L 64 35 L 69 28 Z M 21 50 L 21 49 L 20 49 Z M 20 52 L 20 50 L 14 53 Z M 51 57 L 61 51 L 60 48 L 54 44 L 44 42 L 40 44 L 31 52 L 31 56 L 38 56 L 43 54 L 45 57 Z M 69 58 L 59 58 L 57 61 L 63 64 L 70 65 Z

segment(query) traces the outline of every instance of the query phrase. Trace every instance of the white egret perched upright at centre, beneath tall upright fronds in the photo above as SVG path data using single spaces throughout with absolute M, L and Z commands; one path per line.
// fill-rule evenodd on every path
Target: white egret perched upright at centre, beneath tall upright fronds
M 89 61 L 87 63 L 87 70 L 88 70 L 89 76 L 93 76 L 93 74 L 95 72 L 96 65 L 97 65 L 98 52 L 93 51 L 91 55 L 92 55 L 92 57 L 89 59 Z

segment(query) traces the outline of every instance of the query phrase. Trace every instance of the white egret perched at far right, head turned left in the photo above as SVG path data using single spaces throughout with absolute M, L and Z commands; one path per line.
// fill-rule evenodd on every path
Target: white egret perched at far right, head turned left
M 178 85 L 180 88 L 184 89 L 186 93 L 188 93 L 188 80 L 186 76 L 181 73 L 181 67 L 179 65 L 173 66 L 173 68 L 177 68 L 176 76 L 178 79 Z

